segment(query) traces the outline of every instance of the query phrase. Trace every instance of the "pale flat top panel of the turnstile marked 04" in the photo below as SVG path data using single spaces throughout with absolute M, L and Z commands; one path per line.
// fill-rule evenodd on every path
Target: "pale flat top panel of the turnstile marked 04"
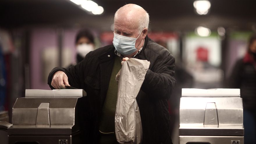
M 182 97 L 240 97 L 238 88 L 182 88 Z

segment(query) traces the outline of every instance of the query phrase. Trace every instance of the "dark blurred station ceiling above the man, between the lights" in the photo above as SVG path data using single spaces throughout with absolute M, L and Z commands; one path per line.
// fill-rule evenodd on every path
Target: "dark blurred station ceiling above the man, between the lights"
M 193 0 L 94 0 L 104 8 L 92 15 L 69 0 L 0 0 L 0 27 L 87 26 L 110 31 L 115 11 L 127 3 L 142 6 L 152 31 L 189 31 L 199 25 L 238 30 L 256 28 L 255 0 L 209 0 L 208 15 L 198 15 Z

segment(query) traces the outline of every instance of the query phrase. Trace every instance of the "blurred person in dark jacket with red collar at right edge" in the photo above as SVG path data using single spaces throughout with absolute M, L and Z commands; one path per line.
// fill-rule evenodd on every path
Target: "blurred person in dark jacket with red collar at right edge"
M 229 78 L 230 88 L 240 88 L 243 98 L 244 143 L 256 143 L 256 35 L 248 42 L 248 51 L 238 60 Z

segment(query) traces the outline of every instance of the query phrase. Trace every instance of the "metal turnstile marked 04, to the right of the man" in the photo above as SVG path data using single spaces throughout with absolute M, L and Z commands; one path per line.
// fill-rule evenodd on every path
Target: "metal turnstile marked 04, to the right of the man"
M 183 88 L 180 144 L 243 144 L 240 89 Z

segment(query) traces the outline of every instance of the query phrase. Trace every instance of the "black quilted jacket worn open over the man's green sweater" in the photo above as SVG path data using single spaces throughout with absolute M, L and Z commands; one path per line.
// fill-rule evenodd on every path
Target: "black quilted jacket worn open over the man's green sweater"
M 88 53 L 81 63 L 69 69 L 56 67 L 48 77 L 51 86 L 53 74 L 62 70 L 67 74 L 69 84 L 87 92 L 86 109 L 83 110 L 85 143 L 98 143 L 99 120 L 108 90 L 111 70 L 115 59 L 114 46 L 108 45 Z M 175 58 L 170 52 L 145 38 L 142 51 L 135 58 L 150 61 L 141 90 L 136 97 L 141 114 L 143 144 L 171 144 L 169 133 L 170 116 L 167 100 L 176 83 L 174 79 Z

